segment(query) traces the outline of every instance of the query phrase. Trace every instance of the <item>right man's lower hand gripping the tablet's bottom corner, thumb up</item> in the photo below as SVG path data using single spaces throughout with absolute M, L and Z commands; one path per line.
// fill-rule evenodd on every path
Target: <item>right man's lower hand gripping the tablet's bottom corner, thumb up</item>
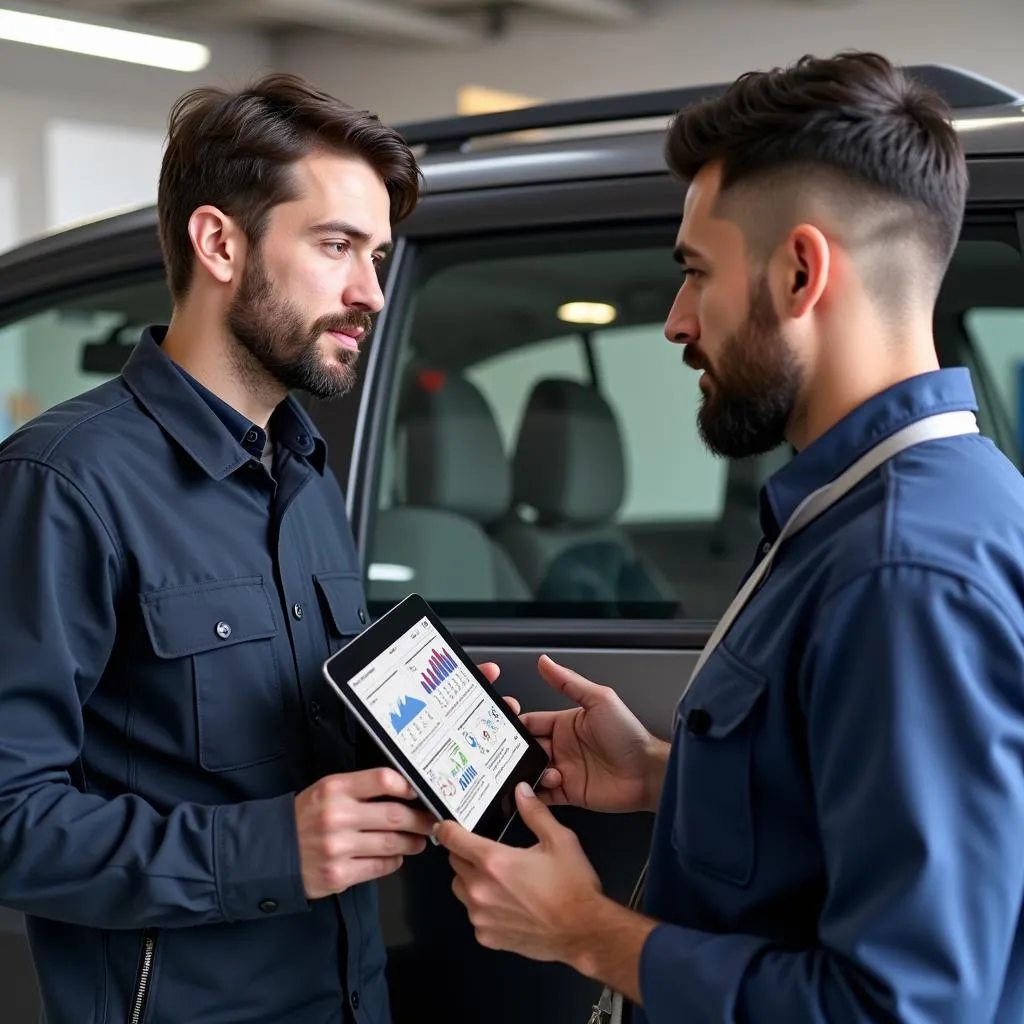
M 516 791 L 516 806 L 539 840 L 525 850 L 474 836 L 455 821 L 437 826 L 456 872 L 452 889 L 481 946 L 571 964 L 586 941 L 588 905 L 603 900 L 600 880 L 575 834 L 525 783 Z

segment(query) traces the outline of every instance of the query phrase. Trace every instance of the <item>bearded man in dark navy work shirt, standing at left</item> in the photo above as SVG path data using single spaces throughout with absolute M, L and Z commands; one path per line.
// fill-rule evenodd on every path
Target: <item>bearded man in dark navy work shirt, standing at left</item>
M 432 819 L 325 692 L 367 612 L 289 392 L 351 386 L 418 195 L 300 79 L 183 96 L 169 327 L 0 447 L 0 901 L 49 1024 L 389 1019 L 373 880 Z

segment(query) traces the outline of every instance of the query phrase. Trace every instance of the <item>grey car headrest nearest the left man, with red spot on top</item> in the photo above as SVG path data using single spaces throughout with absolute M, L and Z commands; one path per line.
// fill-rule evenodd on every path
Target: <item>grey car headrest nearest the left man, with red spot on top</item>
M 505 515 L 511 472 L 495 415 L 475 385 L 440 370 L 420 370 L 406 389 L 398 428 L 401 504 L 444 509 L 484 524 Z

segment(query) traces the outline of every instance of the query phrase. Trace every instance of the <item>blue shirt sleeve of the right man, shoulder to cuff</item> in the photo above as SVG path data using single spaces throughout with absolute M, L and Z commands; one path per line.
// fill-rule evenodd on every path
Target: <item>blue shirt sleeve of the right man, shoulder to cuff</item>
M 1024 894 L 1021 620 L 1019 597 L 906 565 L 823 604 L 800 679 L 818 944 L 659 926 L 651 1024 L 993 1019 Z

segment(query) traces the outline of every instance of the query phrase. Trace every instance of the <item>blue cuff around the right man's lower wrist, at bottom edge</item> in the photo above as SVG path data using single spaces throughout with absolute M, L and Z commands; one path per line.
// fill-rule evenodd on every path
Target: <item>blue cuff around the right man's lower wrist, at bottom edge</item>
M 739 986 L 767 945 L 751 935 L 711 935 L 658 925 L 640 953 L 640 996 L 650 1024 L 731 1021 Z M 685 1014 L 683 1010 L 685 1009 Z

